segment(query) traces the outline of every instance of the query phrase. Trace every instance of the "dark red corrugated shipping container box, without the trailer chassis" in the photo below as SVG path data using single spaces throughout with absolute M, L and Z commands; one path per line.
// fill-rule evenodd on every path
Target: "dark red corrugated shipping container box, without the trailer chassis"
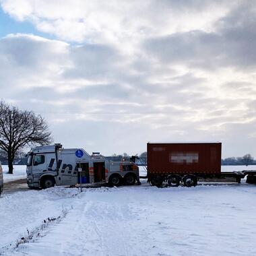
M 148 143 L 148 174 L 219 174 L 222 143 Z

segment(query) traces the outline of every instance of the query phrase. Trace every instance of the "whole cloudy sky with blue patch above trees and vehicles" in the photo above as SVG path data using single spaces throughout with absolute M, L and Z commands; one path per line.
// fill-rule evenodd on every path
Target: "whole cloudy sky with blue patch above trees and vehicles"
M 256 1 L 0 0 L 0 98 L 102 154 L 256 156 Z

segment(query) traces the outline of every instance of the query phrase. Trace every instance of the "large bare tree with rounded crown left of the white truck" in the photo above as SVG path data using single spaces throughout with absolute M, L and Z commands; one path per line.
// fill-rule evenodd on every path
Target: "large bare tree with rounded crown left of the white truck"
M 0 149 L 7 153 L 8 173 L 13 173 L 13 160 L 18 150 L 52 141 L 49 127 L 40 115 L 0 102 Z

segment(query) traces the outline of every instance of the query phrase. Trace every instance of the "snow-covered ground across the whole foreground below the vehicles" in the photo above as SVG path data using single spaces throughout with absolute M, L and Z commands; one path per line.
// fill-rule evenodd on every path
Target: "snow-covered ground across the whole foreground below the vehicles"
M 0 199 L 0 255 L 256 255 L 256 186 L 18 192 Z

